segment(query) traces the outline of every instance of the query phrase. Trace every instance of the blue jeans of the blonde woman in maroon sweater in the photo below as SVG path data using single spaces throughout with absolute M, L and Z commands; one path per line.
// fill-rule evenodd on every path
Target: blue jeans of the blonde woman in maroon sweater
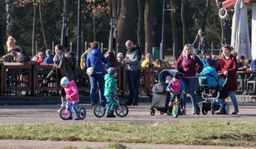
M 196 78 L 185 78 L 184 83 L 185 83 L 186 87 L 189 89 L 192 106 L 195 107 L 196 106 L 196 97 L 194 94 L 194 88 L 195 88 Z M 185 98 L 186 98 L 186 95 L 184 95 L 184 105 L 185 105 Z

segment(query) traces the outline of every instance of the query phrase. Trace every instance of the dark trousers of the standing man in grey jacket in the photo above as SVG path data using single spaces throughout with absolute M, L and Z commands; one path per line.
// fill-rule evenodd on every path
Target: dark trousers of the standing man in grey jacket
M 127 103 L 138 104 L 140 89 L 140 70 L 126 71 L 126 82 L 129 89 Z

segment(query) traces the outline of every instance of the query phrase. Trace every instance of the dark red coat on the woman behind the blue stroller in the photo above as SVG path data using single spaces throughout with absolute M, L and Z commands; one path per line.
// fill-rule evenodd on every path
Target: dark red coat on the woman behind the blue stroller
M 224 57 L 219 58 L 219 62 L 216 66 L 216 70 L 220 72 L 228 71 L 228 90 L 235 91 L 237 89 L 237 75 L 236 71 L 238 70 L 238 64 L 235 56 L 230 55 L 229 59 L 225 59 Z M 222 79 L 225 79 L 225 76 L 220 76 Z

